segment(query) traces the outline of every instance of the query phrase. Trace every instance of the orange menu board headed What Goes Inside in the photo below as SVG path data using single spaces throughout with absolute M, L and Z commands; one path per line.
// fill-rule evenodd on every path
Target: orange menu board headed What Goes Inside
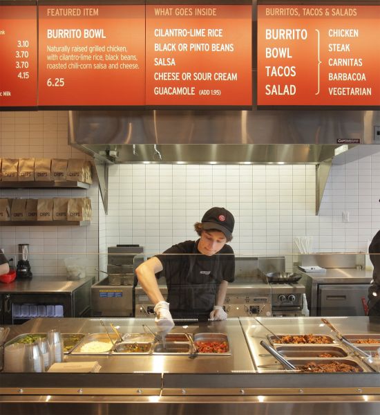
M 251 107 L 251 12 L 146 5 L 146 105 Z

